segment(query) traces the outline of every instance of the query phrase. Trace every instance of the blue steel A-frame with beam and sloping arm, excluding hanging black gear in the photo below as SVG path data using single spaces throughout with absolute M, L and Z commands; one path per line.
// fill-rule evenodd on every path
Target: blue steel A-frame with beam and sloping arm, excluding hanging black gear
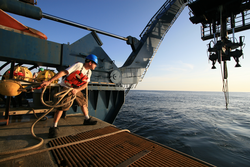
M 35 19 L 43 16 L 89 30 L 84 25 L 42 14 L 37 7 L 32 11 L 30 5 L 26 14 L 26 6 L 27 4 L 17 0 L 0 0 L 0 8 L 5 11 Z M 89 54 L 98 55 L 99 63 L 88 86 L 89 112 L 92 116 L 113 123 L 124 103 L 126 93 L 143 78 L 165 34 L 185 6 L 185 0 L 167 0 L 150 20 L 140 40 L 90 29 L 91 33 L 69 45 L 0 29 L 0 61 L 31 64 L 34 67 L 55 67 L 60 71 L 77 61 L 84 61 Z M 34 16 L 32 12 L 35 13 Z M 131 45 L 132 53 L 123 67 L 118 68 L 104 52 L 97 33 L 125 40 Z M 80 112 L 80 108 L 76 106 L 72 106 L 70 110 Z

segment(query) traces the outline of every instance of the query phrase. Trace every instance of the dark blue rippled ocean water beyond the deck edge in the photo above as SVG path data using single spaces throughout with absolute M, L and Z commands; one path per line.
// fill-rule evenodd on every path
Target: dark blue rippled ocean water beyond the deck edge
M 131 90 L 114 125 L 219 167 L 250 166 L 250 93 Z

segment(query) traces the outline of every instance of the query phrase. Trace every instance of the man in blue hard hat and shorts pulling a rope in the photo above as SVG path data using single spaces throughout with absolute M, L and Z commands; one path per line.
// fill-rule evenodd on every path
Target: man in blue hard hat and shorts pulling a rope
M 67 75 L 66 77 L 63 77 L 63 79 L 60 83 L 60 86 L 63 87 L 63 90 L 73 87 L 73 90 L 70 93 L 73 93 L 74 95 L 76 95 L 75 100 L 78 103 L 78 105 L 81 107 L 81 110 L 85 116 L 85 119 L 83 121 L 83 125 L 95 125 L 97 123 L 97 121 L 91 120 L 91 117 L 89 116 L 86 98 L 83 95 L 83 93 L 81 92 L 82 90 L 84 90 L 88 86 L 88 83 L 90 81 L 90 77 L 92 74 L 91 70 L 94 70 L 96 68 L 97 64 L 98 64 L 98 59 L 97 59 L 96 55 L 90 54 L 86 57 L 85 63 L 77 62 L 74 65 L 70 66 L 69 68 L 57 73 L 49 81 L 43 81 L 43 83 L 41 84 L 42 87 L 48 86 L 53 81 Z M 69 78 L 72 78 L 71 76 L 73 74 L 75 74 L 75 72 L 80 72 L 85 77 L 84 78 L 85 83 L 83 83 L 83 85 L 81 85 L 81 86 L 75 85 L 74 86 L 74 84 L 70 84 L 71 82 L 69 81 Z M 83 77 L 81 79 L 83 79 Z M 70 93 L 68 95 L 70 95 Z M 70 100 L 70 98 L 69 98 L 69 100 Z M 64 99 L 62 101 L 64 101 Z M 66 101 L 64 101 L 64 102 L 66 102 Z M 57 125 L 58 125 L 59 119 L 61 118 L 63 111 L 67 111 L 68 109 L 69 109 L 69 107 L 63 106 L 61 108 L 58 108 L 57 111 L 55 112 L 53 126 L 50 127 L 50 129 L 49 129 L 49 136 L 48 136 L 49 138 L 54 138 L 54 137 L 58 136 L 59 129 L 58 129 Z

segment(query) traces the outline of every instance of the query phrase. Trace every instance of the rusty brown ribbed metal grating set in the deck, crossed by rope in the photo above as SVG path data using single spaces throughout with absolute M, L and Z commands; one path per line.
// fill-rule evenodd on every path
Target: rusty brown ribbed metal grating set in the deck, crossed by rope
M 85 141 L 52 150 L 58 166 L 213 166 L 113 126 L 57 138 L 48 144 L 54 147 L 81 140 Z

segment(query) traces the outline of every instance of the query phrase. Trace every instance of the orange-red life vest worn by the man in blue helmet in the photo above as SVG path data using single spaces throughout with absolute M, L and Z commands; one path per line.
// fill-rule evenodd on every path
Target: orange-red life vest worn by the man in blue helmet
M 65 84 L 72 88 L 78 88 L 83 84 L 87 83 L 88 76 L 83 75 L 81 71 L 77 70 L 75 72 L 72 72 L 69 76 L 67 76 L 67 78 L 65 78 L 64 80 Z

